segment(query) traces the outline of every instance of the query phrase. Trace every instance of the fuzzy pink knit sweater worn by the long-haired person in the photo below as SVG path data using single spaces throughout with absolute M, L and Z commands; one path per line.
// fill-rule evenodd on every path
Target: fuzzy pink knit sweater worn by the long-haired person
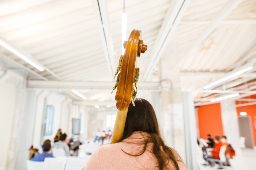
M 147 133 L 135 132 L 123 142 L 102 145 L 86 162 L 84 170 L 134 170 L 134 169 L 158 169 L 157 159 L 150 152 L 153 143 L 148 144 L 146 151 L 140 156 L 138 154 L 143 149 L 143 141 L 148 137 Z M 126 152 L 126 153 L 125 153 Z M 178 159 L 178 157 L 177 157 Z M 188 170 L 182 160 L 177 161 L 180 170 Z M 168 169 L 175 169 L 171 161 L 167 165 Z

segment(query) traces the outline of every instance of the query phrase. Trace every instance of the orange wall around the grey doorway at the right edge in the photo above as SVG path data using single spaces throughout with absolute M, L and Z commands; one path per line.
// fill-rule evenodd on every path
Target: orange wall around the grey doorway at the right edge
M 236 104 L 242 104 L 242 103 L 248 103 L 248 102 L 238 102 L 238 101 L 236 101 Z M 241 111 L 246 112 L 247 116 L 251 117 L 252 131 L 253 131 L 253 137 L 254 137 L 254 145 L 256 146 L 256 105 L 237 107 L 237 115 L 238 116 L 240 116 L 239 113 Z

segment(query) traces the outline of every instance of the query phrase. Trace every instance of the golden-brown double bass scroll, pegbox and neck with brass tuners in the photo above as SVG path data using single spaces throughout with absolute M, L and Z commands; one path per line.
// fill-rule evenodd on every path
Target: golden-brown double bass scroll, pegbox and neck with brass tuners
M 136 99 L 139 79 L 139 68 L 136 68 L 136 59 L 140 56 L 140 53 L 144 53 L 147 50 L 147 45 L 144 45 L 143 40 L 140 39 L 141 31 L 133 29 L 128 41 L 124 42 L 125 52 L 124 55 L 121 55 L 119 66 L 115 72 L 116 76 L 120 71 L 117 76 L 117 82 L 113 87 L 113 90 L 117 88 L 115 100 L 117 101 L 116 108 L 118 112 L 111 143 L 119 142 L 123 137 L 128 106 L 131 102 L 134 106 Z

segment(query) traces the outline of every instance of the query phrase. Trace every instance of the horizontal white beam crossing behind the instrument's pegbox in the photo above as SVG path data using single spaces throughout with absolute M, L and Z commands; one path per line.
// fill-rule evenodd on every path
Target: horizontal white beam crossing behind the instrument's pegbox
M 48 90 L 112 90 L 114 82 L 65 82 L 27 80 L 27 88 Z M 139 90 L 159 90 L 159 82 L 139 82 Z

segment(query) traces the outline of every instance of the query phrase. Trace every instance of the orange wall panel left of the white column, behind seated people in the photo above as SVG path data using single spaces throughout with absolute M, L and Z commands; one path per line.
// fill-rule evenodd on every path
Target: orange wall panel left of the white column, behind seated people
M 223 136 L 223 126 L 221 120 L 221 104 L 209 104 L 199 106 L 197 110 L 199 137 L 207 138 L 207 134 Z

